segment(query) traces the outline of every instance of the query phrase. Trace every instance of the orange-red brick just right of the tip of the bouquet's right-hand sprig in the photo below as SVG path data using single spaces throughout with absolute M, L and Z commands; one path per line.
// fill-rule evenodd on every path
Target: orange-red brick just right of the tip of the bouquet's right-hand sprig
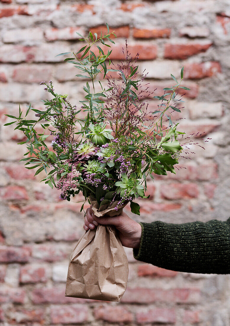
M 221 72 L 221 65 L 219 62 L 215 61 L 192 63 L 186 64 L 184 66 L 185 79 L 201 79 L 205 77 L 212 77 L 218 72 Z

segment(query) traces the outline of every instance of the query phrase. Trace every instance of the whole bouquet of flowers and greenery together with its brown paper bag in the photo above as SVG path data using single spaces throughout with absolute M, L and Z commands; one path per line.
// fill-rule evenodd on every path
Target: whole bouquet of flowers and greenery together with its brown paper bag
M 120 215 L 128 203 L 131 212 L 140 215 L 135 200 L 148 198 L 147 178 L 175 173 L 183 133 L 177 131 L 172 113 L 181 109 L 178 90 L 188 90 L 180 85 L 182 68 L 180 81 L 171 75 L 175 85 L 153 96 L 145 83 L 147 74 L 138 72 L 138 54 L 132 58 L 127 43 L 121 64 L 109 59 L 111 34 L 108 28 L 105 35 L 80 35 L 86 45 L 64 60 L 86 81 L 80 109 L 67 95 L 55 93 L 52 81 L 41 82 L 51 97 L 43 100 L 44 111 L 30 104 L 22 116 L 19 106 L 19 116 L 7 115 L 14 121 L 6 124 L 16 123 L 15 129 L 25 135 L 20 143 L 27 147 L 21 160 L 25 167 L 37 169 L 35 175 L 44 170 L 42 181 L 60 189 L 62 200 L 82 192 L 81 211 L 88 200 L 98 217 Z M 146 98 L 159 100 L 156 110 L 148 109 Z M 35 112 L 33 120 L 27 118 L 30 111 Z M 66 295 L 119 301 L 127 277 L 127 257 L 115 229 L 99 225 L 81 237 L 70 256 Z

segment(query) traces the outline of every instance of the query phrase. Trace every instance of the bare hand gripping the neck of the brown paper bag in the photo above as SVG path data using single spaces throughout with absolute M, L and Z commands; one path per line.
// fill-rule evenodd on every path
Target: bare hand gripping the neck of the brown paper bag
M 121 243 L 125 247 L 139 248 L 141 238 L 141 225 L 132 220 L 124 212 L 119 216 L 96 217 L 92 210 L 92 205 L 86 210 L 84 230 L 93 230 L 98 224 L 114 225 L 118 230 Z

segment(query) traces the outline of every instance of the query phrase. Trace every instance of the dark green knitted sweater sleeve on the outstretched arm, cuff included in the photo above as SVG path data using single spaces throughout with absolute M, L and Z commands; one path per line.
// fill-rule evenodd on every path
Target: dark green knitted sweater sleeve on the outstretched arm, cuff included
M 183 224 L 140 223 L 134 258 L 165 269 L 189 273 L 230 274 L 230 218 Z

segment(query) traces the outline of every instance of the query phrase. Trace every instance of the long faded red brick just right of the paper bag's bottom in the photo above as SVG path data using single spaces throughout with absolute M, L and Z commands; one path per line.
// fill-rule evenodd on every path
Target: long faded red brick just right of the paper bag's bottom
M 194 304 L 201 300 L 199 289 L 148 289 L 127 288 L 121 302 L 128 304 L 150 304 L 154 302 Z

